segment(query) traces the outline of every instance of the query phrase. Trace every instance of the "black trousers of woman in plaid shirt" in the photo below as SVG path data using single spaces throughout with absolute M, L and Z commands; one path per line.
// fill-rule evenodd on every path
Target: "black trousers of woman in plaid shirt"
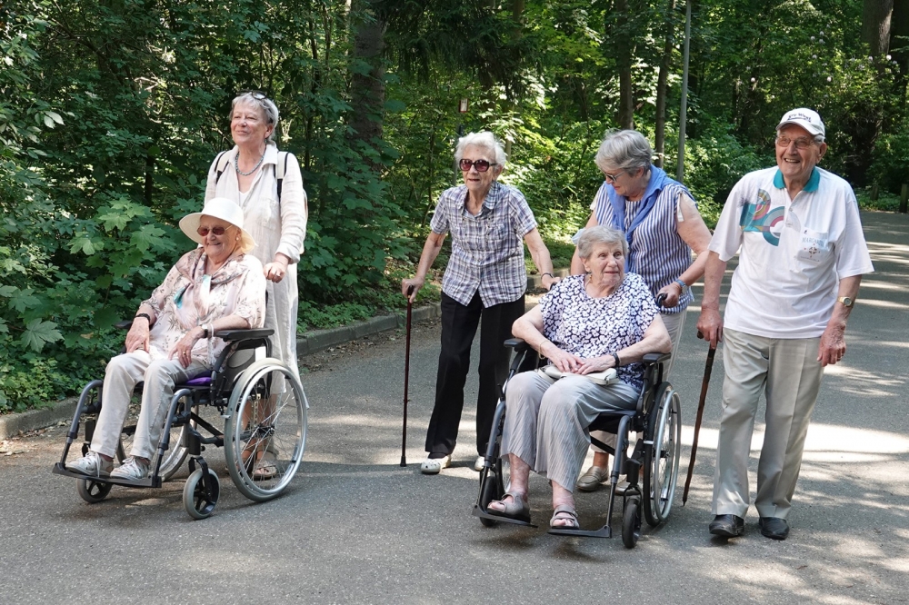
M 504 342 L 512 337 L 514 320 L 524 314 L 524 294 L 514 302 L 484 307 L 475 293 L 464 306 L 442 293 L 442 352 L 435 380 L 435 408 L 426 431 L 426 451 L 450 454 L 457 442 L 458 424 L 464 410 L 464 382 L 470 370 L 470 346 L 477 323 L 480 329 L 480 388 L 476 397 L 476 451 L 483 455 L 493 427 L 499 386 L 508 376 L 510 349 Z

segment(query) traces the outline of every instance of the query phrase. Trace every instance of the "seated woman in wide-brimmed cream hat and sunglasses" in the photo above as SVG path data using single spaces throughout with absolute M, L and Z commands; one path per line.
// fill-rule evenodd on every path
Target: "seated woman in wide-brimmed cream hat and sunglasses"
M 214 198 L 187 214 L 180 229 L 200 247 L 185 253 L 164 283 L 139 305 L 125 352 L 107 364 L 101 412 L 88 453 L 66 464 L 91 477 L 142 480 L 148 475 L 175 384 L 209 370 L 226 343 L 215 332 L 260 328 L 265 322 L 262 263 L 247 254 L 255 241 L 243 211 Z M 135 385 L 145 382 L 130 458 L 114 455 Z

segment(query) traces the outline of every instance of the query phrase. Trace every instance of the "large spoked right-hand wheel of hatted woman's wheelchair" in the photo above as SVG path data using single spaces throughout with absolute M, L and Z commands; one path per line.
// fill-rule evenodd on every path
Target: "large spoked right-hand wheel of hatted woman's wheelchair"
M 227 471 L 246 498 L 270 500 L 284 491 L 303 459 L 303 385 L 284 363 L 260 360 L 240 375 L 229 408 L 225 429 Z

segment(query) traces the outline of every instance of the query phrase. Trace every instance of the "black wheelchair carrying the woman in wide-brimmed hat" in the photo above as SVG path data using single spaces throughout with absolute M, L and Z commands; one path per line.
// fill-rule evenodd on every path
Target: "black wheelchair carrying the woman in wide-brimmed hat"
M 120 322 L 128 329 L 132 322 Z M 70 447 L 84 435 L 82 455 L 95 432 L 101 411 L 104 381 L 85 385 L 66 433 L 66 444 L 55 474 L 77 480 L 79 496 L 89 503 L 103 501 L 114 485 L 158 488 L 171 479 L 186 457 L 190 475 L 183 491 L 186 512 L 205 519 L 215 510 L 221 484 L 202 452 L 206 445 L 225 448 L 227 471 L 237 489 L 252 501 L 267 501 L 285 490 L 294 478 L 306 445 L 306 395 L 295 372 L 271 357 L 272 330 L 225 330 L 215 335 L 227 342 L 211 372 L 175 386 L 164 430 L 151 460 L 148 477 L 129 481 L 82 475 L 66 469 Z M 264 358 L 256 360 L 256 357 Z M 137 385 L 126 414 L 115 458 L 123 462 L 135 435 L 141 408 L 141 383 Z M 282 388 L 283 387 L 283 388 Z M 216 411 L 208 413 L 204 410 Z M 224 431 L 215 423 L 220 416 Z M 267 457 L 267 473 L 255 471 L 255 461 Z M 198 467 L 198 468 L 197 468 Z

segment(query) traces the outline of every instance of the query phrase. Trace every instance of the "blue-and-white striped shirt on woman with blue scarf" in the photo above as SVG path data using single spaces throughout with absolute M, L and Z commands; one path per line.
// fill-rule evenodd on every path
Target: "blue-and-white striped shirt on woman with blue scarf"
M 651 170 L 659 169 L 652 166 Z M 678 220 L 682 213 L 679 200 L 681 196 L 687 196 L 687 193 L 680 183 L 673 179 L 668 181 L 669 184 L 662 190 L 654 191 L 653 194 L 657 197 L 653 210 L 632 232 L 625 263 L 625 271 L 643 277 L 654 297 L 660 289 L 678 279 L 691 264 L 691 248 L 684 243 L 678 233 Z M 594 211 L 598 224 L 617 227 L 614 224 L 613 206 L 609 203 L 609 190 L 612 187 L 611 184 L 604 182 L 596 193 L 590 209 Z M 643 199 L 637 202 L 624 201 L 624 225 L 620 227 L 622 231 L 627 233 L 643 203 Z M 679 297 L 677 305 L 668 309 L 661 308 L 660 312 L 665 314 L 684 312 L 693 299 L 694 296 L 688 290 Z

